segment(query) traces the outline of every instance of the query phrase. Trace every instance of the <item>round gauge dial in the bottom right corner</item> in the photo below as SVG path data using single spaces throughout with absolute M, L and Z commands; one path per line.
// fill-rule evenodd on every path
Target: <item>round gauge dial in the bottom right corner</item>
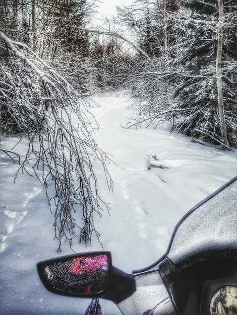
M 237 287 L 219 288 L 212 296 L 210 310 L 211 315 L 237 315 Z

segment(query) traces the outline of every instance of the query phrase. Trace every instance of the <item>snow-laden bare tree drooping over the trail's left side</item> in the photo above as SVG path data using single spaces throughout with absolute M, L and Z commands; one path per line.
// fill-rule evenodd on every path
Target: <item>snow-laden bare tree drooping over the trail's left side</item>
M 72 247 L 77 233 L 80 242 L 91 242 L 93 234 L 99 240 L 94 215 L 101 216 L 109 207 L 98 193 L 94 163 L 104 172 L 109 189 L 112 181 L 106 167 L 108 156 L 92 137 L 97 125 L 87 110 L 88 101 L 81 100 L 67 80 L 27 45 L 3 32 L 0 41 L 0 132 L 20 132 L 29 139 L 16 177 L 20 171 L 29 174 L 27 164 L 34 157 L 33 174 L 44 185 L 54 212 L 58 251 L 63 242 Z

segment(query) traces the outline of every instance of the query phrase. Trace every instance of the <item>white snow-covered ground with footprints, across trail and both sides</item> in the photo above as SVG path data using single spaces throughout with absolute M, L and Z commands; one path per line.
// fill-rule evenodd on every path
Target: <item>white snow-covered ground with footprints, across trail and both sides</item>
M 104 250 L 112 252 L 113 265 L 131 273 L 156 261 L 166 250 L 177 221 L 196 203 L 237 174 L 237 154 L 194 143 L 167 128 L 123 129 L 132 115 L 127 97 L 95 99 L 91 109 L 100 129 L 95 132 L 99 146 L 112 154 L 108 166 L 114 181 L 108 192 L 100 180 L 100 194 L 110 202 L 95 225 Z M 0 146 L 11 149 L 17 137 L 4 139 Z M 14 150 L 24 156 L 27 140 Z M 149 155 L 170 166 L 148 170 Z M 34 161 L 30 161 L 33 163 Z M 156 163 L 156 161 L 155 161 Z M 57 296 L 40 283 L 38 261 L 72 254 L 64 247 L 56 253 L 53 241 L 53 214 L 48 209 L 44 189 L 35 177 L 19 174 L 9 157 L 0 151 L 0 313 L 5 314 L 83 314 L 89 300 Z M 29 164 L 30 170 L 30 164 Z M 76 252 L 101 250 L 74 244 Z M 104 314 L 120 314 L 109 301 L 100 301 Z

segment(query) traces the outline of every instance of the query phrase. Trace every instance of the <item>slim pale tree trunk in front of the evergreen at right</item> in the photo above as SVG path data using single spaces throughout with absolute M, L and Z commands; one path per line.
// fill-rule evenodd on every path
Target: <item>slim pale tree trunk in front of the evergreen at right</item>
M 223 23 L 224 23 L 224 5 L 223 0 L 218 0 L 219 5 L 219 29 L 218 29 L 218 45 L 216 54 L 216 80 L 217 80 L 217 94 L 218 94 L 218 107 L 220 116 L 220 129 L 221 141 L 228 145 L 227 131 L 224 116 L 224 103 L 223 103 L 223 90 L 222 90 L 222 77 L 221 77 L 221 58 L 223 48 Z

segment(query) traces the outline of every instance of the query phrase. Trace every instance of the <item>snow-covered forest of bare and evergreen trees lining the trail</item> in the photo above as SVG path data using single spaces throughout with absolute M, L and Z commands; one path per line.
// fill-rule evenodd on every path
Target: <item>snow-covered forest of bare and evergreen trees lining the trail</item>
M 55 213 L 58 251 L 62 240 L 72 245 L 75 227 L 80 242 L 92 233 L 99 239 L 93 214 L 109 211 L 94 171 L 97 161 L 112 189 L 109 152 L 92 136 L 93 95 L 130 93 L 134 115 L 123 128 L 168 122 L 170 132 L 193 141 L 221 150 L 237 146 L 236 1 L 135 0 L 102 25 L 92 23 L 97 4 L 0 3 L 1 139 L 19 134 L 29 140 L 17 174 L 29 173 L 34 155 L 33 175 Z

